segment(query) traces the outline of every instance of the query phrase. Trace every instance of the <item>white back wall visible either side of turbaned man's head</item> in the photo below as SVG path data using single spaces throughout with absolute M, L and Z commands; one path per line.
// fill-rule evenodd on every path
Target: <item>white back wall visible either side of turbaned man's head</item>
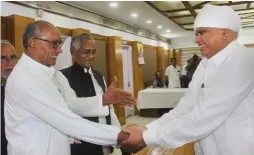
M 197 47 L 197 44 L 194 41 L 195 41 L 194 32 L 189 32 L 184 37 L 171 39 L 171 46 L 173 48 Z M 254 28 L 242 29 L 239 33 L 238 41 L 241 44 L 253 44 Z

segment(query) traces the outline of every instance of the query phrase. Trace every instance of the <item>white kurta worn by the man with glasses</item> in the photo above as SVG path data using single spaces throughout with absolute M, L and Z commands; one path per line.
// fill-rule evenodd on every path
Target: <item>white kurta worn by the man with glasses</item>
M 9 155 L 70 155 L 70 137 L 98 145 L 117 143 L 118 127 L 90 122 L 68 109 L 53 81 L 57 73 L 23 54 L 9 76 L 5 96 Z

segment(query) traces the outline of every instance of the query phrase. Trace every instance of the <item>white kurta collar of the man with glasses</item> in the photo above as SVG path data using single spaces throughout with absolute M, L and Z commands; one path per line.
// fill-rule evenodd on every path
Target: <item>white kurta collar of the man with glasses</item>
M 22 59 L 31 68 L 33 68 L 34 71 L 36 71 L 37 73 L 40 73 L 43 76 L 53 77 L 53 75 L 56 72 L 56 70 L 52 66 L 51 67 L 47 67 L 45 65 L 42 65 L 39 62 L 33 60 L 31 57 L 29 57 L 25 53 L 22 54 Z

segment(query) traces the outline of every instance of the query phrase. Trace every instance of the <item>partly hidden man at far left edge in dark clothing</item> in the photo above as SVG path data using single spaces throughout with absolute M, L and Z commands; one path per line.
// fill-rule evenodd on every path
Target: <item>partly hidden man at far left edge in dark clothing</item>
M 7 40 L 1 40 L 1 155 L 7 155 L 7 139 L 5 136 L 4 96 L 5 83 L 17 63 L 15 48 Z

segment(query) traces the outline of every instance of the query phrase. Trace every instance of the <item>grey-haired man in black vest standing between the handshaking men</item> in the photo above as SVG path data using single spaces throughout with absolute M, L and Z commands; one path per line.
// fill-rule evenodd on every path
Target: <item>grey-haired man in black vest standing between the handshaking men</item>
M 71 41 L 71 54 L 74 64 L 69 68 L 61 70 L 61 72 L 68 79 L 77 97 L 102 95 L 102 104 L 104 102 L 108 103 L 110 97 L 107 95 L 105 80 L 98 71 L 91 68 L 96 56 L 95 42 L 92 37 L 89 34 L 73 37 Z M 110 87 L 115 87 L 115 85 L 116 79 Z M 100 124 L 112 124 L 120 127 L 113 106 L 106 105 L 103 108 L 106 108 L 108 111 L 107 115 L 83 118 Z M 111 146 L 100 146 L 79 140 L 71 144 L 71 155 L 109 155 L 112 152 L 113 147 Z

